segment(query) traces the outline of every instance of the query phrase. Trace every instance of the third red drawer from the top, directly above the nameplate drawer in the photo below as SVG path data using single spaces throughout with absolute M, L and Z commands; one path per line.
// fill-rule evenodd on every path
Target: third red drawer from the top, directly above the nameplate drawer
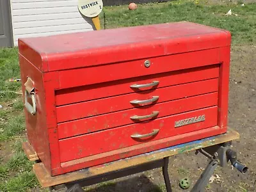
M 58 124 L 58 138 L 68 138 L 79 134 L 111 129 L 122 125 L 134 124 L 145 120 L 154 120 L 164 116 L 207 108 L 218 104 L 218 92 L 207 93 L 185 99 L 162 102 L 153 106 L 143 106 L 106 115 L 92 116 Z M 152 117 L 147 117 L 152 115 Z M 138 116 L 145 117 L 138 120 Z

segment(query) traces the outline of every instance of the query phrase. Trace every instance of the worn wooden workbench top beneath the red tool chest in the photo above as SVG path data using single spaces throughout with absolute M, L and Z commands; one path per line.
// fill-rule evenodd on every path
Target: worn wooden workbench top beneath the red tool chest
M 188 152 L 191 150 L 197 150 L 199 148 L 218 145 L 220 143 L 225 143 L 227 141 L 232 141 L 237 139 L 239 139 L 239 133 L 228 128 L 228 131 L 226 134 L 212 136 L 210 138 L 205 138 L 203 140 L 192 141 L 182 145 L 176 145 L 174 147 L 168 147 L 161 150 L 156 150 L 154 152 L 149 152 L 146 154 L 141 154 L 139 156 L 129 157 L 129 158 L 121 159 L 118 161 L 113 161 L 111 163 L 106 163 L 99 166 L 93 166 L 91 168 L 86 168 L 84 170 L 66 173 L 63 175 L 55 176 L 55 177 L 51 177 L 51 175 L 45 170 L 44 164 L 42 163 L 34 164 L 33 171 L 35 172 L 36 177 L 40 182 L 42 188 L 47 188 L 50 186 L 55 186 L 58 184 L 72 182 L 80 179 L 86 179 L 88 177 L 93 177 L 103 173 L 121 170 L 124 168 L 128 168 L 130 166 L 136 166 L 138 164 L 148 163 L 150 161 L 156 161 L 164 157 L 174 156 L 176 154 L 182 154 L 184 152 Z

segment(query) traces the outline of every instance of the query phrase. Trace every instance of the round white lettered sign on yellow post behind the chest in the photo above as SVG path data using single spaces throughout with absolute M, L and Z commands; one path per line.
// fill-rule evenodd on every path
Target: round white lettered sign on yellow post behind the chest
M 99 14 L 102 12 L 102 0 L 79 0 L 78 9 L 86 17 L 91 17 L 97 30 L 100 30 Z

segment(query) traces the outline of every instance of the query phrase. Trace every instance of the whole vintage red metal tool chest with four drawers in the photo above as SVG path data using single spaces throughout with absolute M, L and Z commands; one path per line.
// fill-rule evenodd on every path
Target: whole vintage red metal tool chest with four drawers
M 51 175 L 227 131 L 230 33 L 191 22 L 19 39 L 28 140 Z

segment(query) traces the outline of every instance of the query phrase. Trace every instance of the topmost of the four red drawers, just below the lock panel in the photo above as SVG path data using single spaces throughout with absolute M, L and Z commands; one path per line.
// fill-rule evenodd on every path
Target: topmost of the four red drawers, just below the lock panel
M 83 102 L 86 100 L 100 99 L 115 95 L 124 95 L 127 93 L 141 92 L 143 90 L 153 90 L 172 86 L 176 84 L 191 83 L 212 79 L 219 76 L 219 65 L 209 65 L 204 67 L 189 68 L 173 72 L 165 72 L 150 76 L 141 76 L 106 83 L 90 84 L 87 86 L 78 86 L 56 90 L 56 106 Z M 154 81 L 158 83 L 154 83 Z M 144 88 L 132 88 L 132 85 L 144 85 Z M 152 86 L 152 84 L 156 84 Z

